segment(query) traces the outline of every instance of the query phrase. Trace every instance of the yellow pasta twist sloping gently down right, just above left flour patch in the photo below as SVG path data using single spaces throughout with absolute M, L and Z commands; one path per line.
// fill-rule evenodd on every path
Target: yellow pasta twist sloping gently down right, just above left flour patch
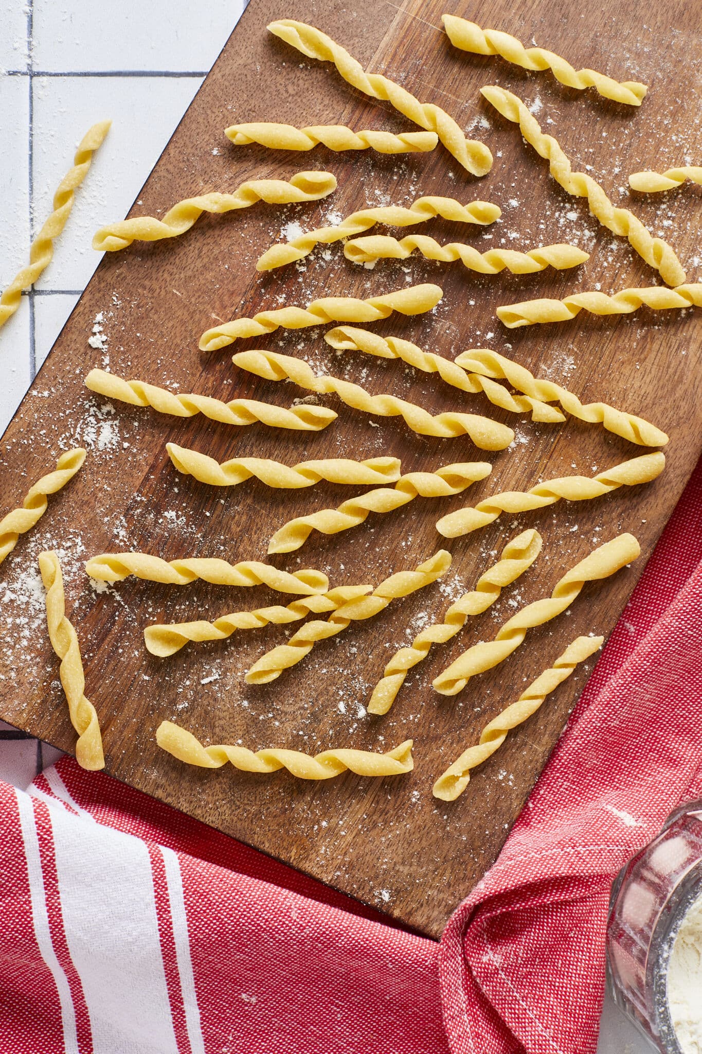
M 175 417 L 194 417 L 196 413 L 201 413 L 222 425 L 239 427 L 255 425 L 260 421 L 269 428 L 319 432 L 338 416 L 325 406 L 306 405 L 287 409 L 252 398 L 233 398 L 229 403 L 223 403 L 209 395 L 183 395 L 168 391 L 167 388 L 156 388 L 143 380 L 124 380 L 104 370 L 91 370 L 85 377 L 85 387 L 107 398 L 128 403 L 129 406 L 151 406 L 159 413 L 171 413 Z

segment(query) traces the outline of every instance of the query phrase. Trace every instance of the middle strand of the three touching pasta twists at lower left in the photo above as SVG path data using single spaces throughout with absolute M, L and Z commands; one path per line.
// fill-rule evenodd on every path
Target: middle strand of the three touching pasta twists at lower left
M 144 629 L 144 643 L 153 656 L 165 659 L 166 656 L 180 651 L 188 641 L 224 641 L 237 629 L 262 629 L 270 623 L 284 626 L 306 619 L 308 614 L 336 611 L 349 600 L 365 597 L 369 592 L 373 592 L 373 586 L 338 586 L 325 593 L 294 600 L 286 607 L 273 604 L 255 611 L 233 611 L 230 614 L 220 616 L 214 622 L 199 619 L 197 622 L 155 623 Z

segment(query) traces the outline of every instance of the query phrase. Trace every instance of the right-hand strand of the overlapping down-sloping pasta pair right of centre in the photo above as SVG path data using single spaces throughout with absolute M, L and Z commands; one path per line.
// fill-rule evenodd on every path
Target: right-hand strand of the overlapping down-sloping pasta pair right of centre
M 621 435 L 622 438 L 628 440 L 630 443 L 638 443 L 639 446 L 661 447 L 668 442 L 665 432 L 644 421 L 643 417 L 625 413 L 623 410 L 616 410 L 614 406 L 608 406 L 606 403 L 586 403 L 583 405 L 573 392 L 561 388 L 553 380 L 538 379 L 526 367 L 499 355 L 496 351 L 489 351 L 485 348 L 472 348 L 469 351 L 462 351 L 456 358 L 456 365 L 464 370 L 475 371 L 474 374 L 468 374 L 469 376 L 483 374 L 508 380 L 518 391 L 524 392 L 529 401 L 538 403 L 538 399 L 558 399 L 563 409 L 571 413 L 574 417 L 578 417 L 579 421 L 602 424 L 608 432 Z M 502 390 L 502 386 L 499 387 Z M 535 416 L 535 419 L 538 418 Z

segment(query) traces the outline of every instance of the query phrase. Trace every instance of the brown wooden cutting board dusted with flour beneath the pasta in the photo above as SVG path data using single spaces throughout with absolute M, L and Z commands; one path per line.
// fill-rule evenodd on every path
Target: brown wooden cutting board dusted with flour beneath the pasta
M 702 423 L 700 312 L 639 311 L 624 318 L 583 313 L 569 324 L 518 331 L 505 330 L 496 318 L 500 304 L 581 289 L 647 286 L 658 276 L 626 242 L 600 228 L 582 200 L 556 186 L 518 131 L 478 94 L 481 85 L 498 83 L 523 96 L 574 162 L 586 165 L 616 202 L 630 204 L 675 246 L 695 280 L 701 189 L 688 186 L 650 198 L 626 190 L 631 171 L 665 169 L 702 156 L 699 43 L 689 8 L 682 0 L 649 5 L 645 12 L 634 0 L 605 7 L 566 0 L 518 5 L 498 0 L 481 5 L 478 16 L 475 5 L 461 2 L 453 8 L 479 17 L 484 25 L 509 30 L 525 42 L 534 36 L 574 63 L 647 82 L 649 95 L 640 110 L 608 103 L 593 92 L 565 90 L 548 74 L 527 75 L 500 59 L 455 51 L 440 30 L 442 9 L 441 0 L 408 0 L 401 8 L 369 0 L 253 0 L 133 213 L 158 215 L 193 194 L 234 190 L 245 178 L 283 177 L 309 168 L 334 172 L 338 191 L 320 203 L 203 216 L 183 237 L 137 242 L 106 255 L 4 435 L 0 481 L 0 508 L 9 509 L 61 450 L 78 444 L 89 450 L 83 471 L 52 500 L 37 529 L 19 542 L 0 572 L 5 586 L 0 716 L 64 750 L 73 748 L 75 734 L 46 639 L 37 573 L 38 552 L 56 547 L 64 565 L 67 610 L 83 649 L 86 691 L 103 728 L 106 770 L 432 936 L 440 934 L 452 910 L 495 860 L 591 662 L 509 737 L 456 802 L 437 802 L 433 781 L 578 633 L 609 633 L 698 458 Z M 405 157 L 335 155 L 323 148 L 309 154 L 234 148 L 223 130 L 244 120 L 409 129 L 386 106 L 375 106 L 349 90 L 330 66 L 304 60 L 266 34 L 266 23 L 279 17 L 316 23 L 372 70 L 401 81 L 422 100 L 443 105 L 488 143 L 495 155 L 492 173 L 473 179 L 441 147 L 429 155 Z M 286 225 L 309 229 L 332 213 L 345 215 L 366 202 L 409 203 L 422 194 L 461 201 L 480 197 L 502 208 L 501 221 L 485 230 L 443 221 L 422 228 L 441 241 L 464 238 L 481 250 L 571 241 L 586 248 L 590 259 L 560 274 L 487 278 L 457 265 L 422 259 L 380 261 L 374 270 L 359 270 L 335 246 L 314 253 L 299 268 L 266 275 L 255 271 L 257 257 L 284 236 Z M 477 395 L 454 392 L 398 363 L 337 355 L 317 329 L 281 330 L 265 341 L 240 341 L 212 355 L 198 352 L 199 335 L 218 320 L 280 304 L 304 305 L 319 295 L 368 296 L 424 280 L 443 287 L 438 309 L 423 318 L 395 317 L 376 327 L 378 332 L 406 336 L 447 356 L 490 347 L 538 376 L 568 386 L 583 401 L 601 398 L 639 413 L 670 435 L 664 474 L 649 486 L 597 502 L 561 503 L 514 521 L 503 516 L 481 532 L 445 542 L 435 522 L 466 504 L 466 497 L 475 504 L 497 490 L 525 489 L 541 479 L 576 471 L 589 475 L 645 451 L 573 419 L 546 426 L 508 417 Z M 100 313 L 104 351 L 88 344 Z M 290 570 L 320 568 L 334 585 L 378 583 L 394 570 L 416 566 L 439 545 L 453 552 L 454 564 L 440 586 L 397 602 L 382 617 L 319 645 L 273 684 L 249 687 L 242 680 L 244 671 L 284 639 L 281 628 L 194 645 L 165 661 L 146 652 L 142 630 L 156 621 L 215 618 L 257 607 L 273 602 L 274 594 L 136 580 L 96 590 L 83 573 L 83 561 L 129 549 L 167 559 L 265 559 L 267 539 L 290 515 L 336 505 L 355 491 L 328 485 L 267 491 L 256 482 L 236 490 L 208 489 L 175 471 L 166 441 L 220 461 L 256 454 L 294 464 L 328 455 L 393 454 L 402 458 L 404 471 L 486 456 L 467 440 L 420 437 L 401 421 L 369 419 L 334 396 L 320 402 L 338 410 L 338 422 L 313 434 L 262 426 L 236 430 L 199 417 L 179 422 L 109 405 L 82 383 L 92 367 L 108 360 L 121 376 L 222 398 L 245 395 L 289 405 L 304 395 L 232 366 L 232 352 L 257 345 L 299 354 L 372 392 L 392 391 L 433 412 L 453 407 L 492 413 L 516 428 L 517 443 L 513 450 L 487 455 L 495 466 L 492 477 L 464 497 L 418 500 L 344 534 L 312 538 L 299 553 L 274 558 Z M 538 527 L 544 539 L 543 553 L 529 573 L 489 613 L 435 649 L 407 679 L 385 718 L 367 717 L 364 706 L 388 657 L 472 588 L 496 551 L 526 526 Z M 567 617 L 531 631 L 507 662 L 474 679 L 460 696 L 446 699 L 432 690 L 432 679 L 464 648 L 493 637 L 517 606 L 547 596 L 568 567 L 623 530 L 633 531 L 643 550 L 630 569 L 587 586 Z M 154 735 L 164 718 L 207 742 L 307 753 L 333 744 L 382 750 L 413 737 L 416 768 L 398 779 L 345 775 L 323 783 L 296 781 L 284 772 L 254 777 L 229 767 L 201 770 L 158 749 Z

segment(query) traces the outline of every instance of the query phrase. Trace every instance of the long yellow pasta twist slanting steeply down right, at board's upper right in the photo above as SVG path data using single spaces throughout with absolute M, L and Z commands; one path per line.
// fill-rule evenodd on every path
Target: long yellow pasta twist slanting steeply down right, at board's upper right
M 585 172 L 574 172 L 558 141 L 541 131 L 536 117 L 521 99 L 503 87 L 481 87 L 480 91 L 503 117 L 519 124 L 526 141 L 540 157 L 548 160 L 551 176 L 564 191 L 575 197 L 587 198 L 589 211 L 602 226 L 614 234 L 627 238 L 631 248 L 649 267 L 660 272 L 661 278 L 668 286 L 679 286 L 685 280 L 682 264 L 670 246 L 661 238 L 655 238 L 628 209 L 614 206 L 591 176 Z

